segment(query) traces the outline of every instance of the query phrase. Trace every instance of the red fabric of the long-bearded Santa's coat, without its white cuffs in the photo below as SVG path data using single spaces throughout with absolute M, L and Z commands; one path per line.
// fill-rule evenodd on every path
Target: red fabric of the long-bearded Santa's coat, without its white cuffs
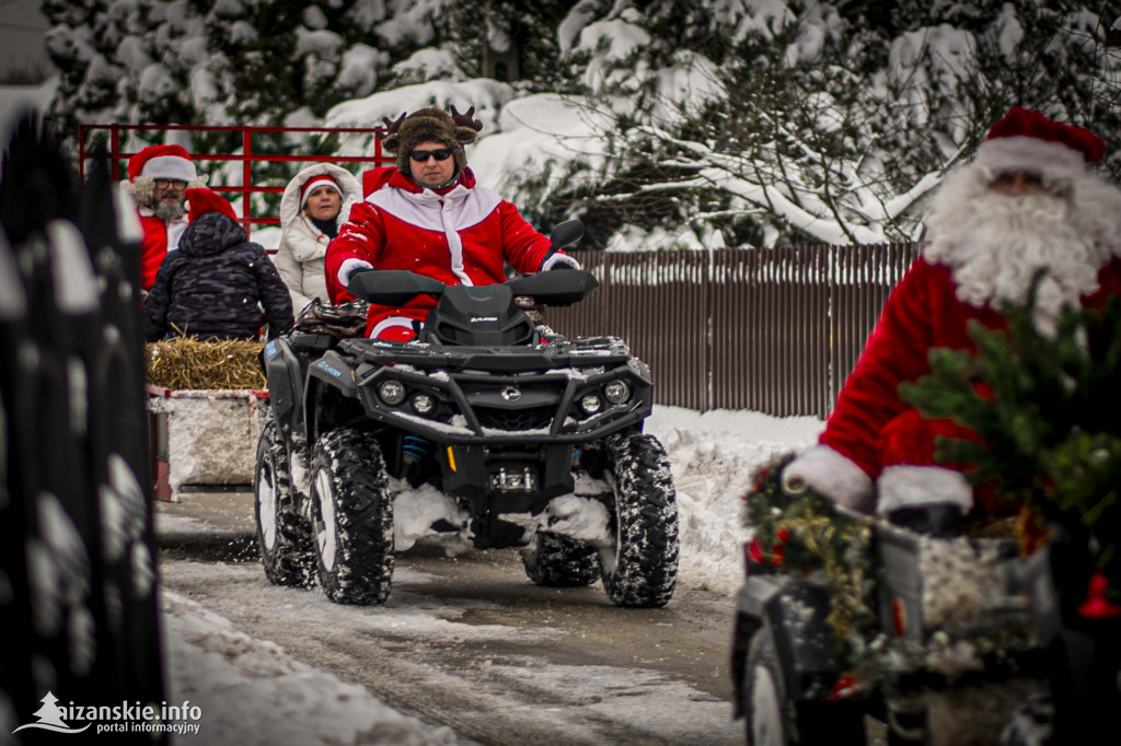
M 900 464 L 934 465 L 936 435 L 967 436 L 946 420 L 924 420 L 899 398 L 904 381 L 930 372 L 932 347 L 976 352 L 966 324 L 976 319 L 988 328 L 1004 328 L 992 308 L 963 304 L 954 293 L 951 269 L 918 259 L 892 291 L 876 328 L 837 398 L 819 442 L 851 459 L 872 479 L 886 467 Z M 1101 308 L 1121 295 L 1121 259 L 1099 272 L 1099 290 L 1083 298 L 1086 308 Z M 974 494 L 988 511 L 995 507 L 990 494 Z

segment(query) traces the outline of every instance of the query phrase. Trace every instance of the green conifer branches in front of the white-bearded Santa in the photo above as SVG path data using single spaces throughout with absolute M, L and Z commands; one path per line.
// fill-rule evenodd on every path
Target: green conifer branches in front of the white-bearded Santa
M 948 418 L 980 440 L 941 438 L 936 459 L 969 464 L 973 484 L 1063 526 L 1119 587 L 1121 539 L 1121 299 L 1064 313 L 1054 336 L 1026 306 L 1002 309 L 1007 329 L 970 323 L 978 354 L 937 348 L 932 373 L 899 386 L 924 417 Z

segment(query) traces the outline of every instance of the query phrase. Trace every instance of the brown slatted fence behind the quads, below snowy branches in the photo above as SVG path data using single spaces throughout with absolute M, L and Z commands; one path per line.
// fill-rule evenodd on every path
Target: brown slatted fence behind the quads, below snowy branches
M 546 320 L 567 336 L 626 339 L 650 365 L 659 403 L 825 417 L 917 251 L 576 251 L 600 289 Z

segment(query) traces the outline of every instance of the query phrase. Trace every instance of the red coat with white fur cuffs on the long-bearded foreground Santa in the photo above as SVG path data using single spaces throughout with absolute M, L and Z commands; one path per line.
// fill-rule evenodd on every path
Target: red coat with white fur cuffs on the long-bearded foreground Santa
M 1084 308 L 1102 308 L 1109 298 L 1121 296 L 1121 259 L 1106 263 L 1097 281 L 1099 289 L 1082 299 Z M 948 267 L 916 260 L 888 298 L 818 445 L 790 464 L 785 478 L 869 512 L 873 481 L 880 513 L 935 502 L 958 505 L 963 513 L 974 504 L 990 514 L 1000 512 L 991 489 L 974 489 L 957 468 L 944 468 L 934 459 L 939 436 L 976 436 L 952 420 L 924 419 L 898 391 L 900 383 L 930 372 L 930 348 L 975 354 L 971 320 L 990 329 L 1007 326 L 990 306 L 979 308 L 957 298 Z

